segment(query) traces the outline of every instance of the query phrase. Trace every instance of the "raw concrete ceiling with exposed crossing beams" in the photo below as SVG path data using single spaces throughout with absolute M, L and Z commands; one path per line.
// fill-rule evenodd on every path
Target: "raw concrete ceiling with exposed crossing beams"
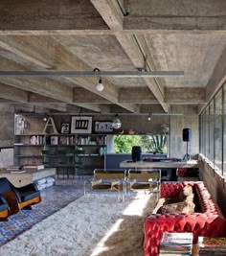
M 200 109 L 225 82 L 226 2 L 0 3 L 0 71 L 136 71 L 145 56 L 147 70 L 182 70 L 185 76 L 104 78 L 102 92 L 96 90 L 98 78 L 1 77 L 0 103 L 43 112 Z

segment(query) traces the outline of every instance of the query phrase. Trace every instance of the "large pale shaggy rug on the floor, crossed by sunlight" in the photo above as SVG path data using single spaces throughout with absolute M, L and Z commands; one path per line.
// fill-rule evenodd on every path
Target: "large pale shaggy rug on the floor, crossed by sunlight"
M 143 220 L 155 197 L 119 202 L 85 195 L 0 247 L 1 256 L 143 255 Z

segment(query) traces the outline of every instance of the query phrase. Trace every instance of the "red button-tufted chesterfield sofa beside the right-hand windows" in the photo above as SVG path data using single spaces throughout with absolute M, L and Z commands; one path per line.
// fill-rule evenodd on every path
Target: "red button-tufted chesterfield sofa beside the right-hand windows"
M 163 183 L 161 198 L 176 197 L 185 185 L 192 185 L 195 212 L 192 214 L 150 214 L 145 219 L 144 255 L 158 255 L 162 233 L 192 232 L 193 243 L 198 236 L 226 236 L 226 221 L 214 198 L 201 181 L 184 183 Z

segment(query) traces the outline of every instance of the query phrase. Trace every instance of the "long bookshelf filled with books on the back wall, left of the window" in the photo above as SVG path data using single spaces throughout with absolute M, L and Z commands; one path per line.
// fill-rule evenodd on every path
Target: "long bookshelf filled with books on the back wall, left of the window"
M 18 123 L 18 124 L 17 124 Z M 53 118 L 16 117 L 14 165 L 40 165 L 56 168 L 57 174 L 73 173 L 79 160 L 83 173 L 105 168 L 106 135 L 58 133 Z

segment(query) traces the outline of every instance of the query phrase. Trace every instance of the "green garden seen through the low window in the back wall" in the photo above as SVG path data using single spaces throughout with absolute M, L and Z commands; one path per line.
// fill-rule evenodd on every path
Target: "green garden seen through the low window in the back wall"
M 167 153 L 168 143 L 166 134 L 156 135 L 115 135 L 114 151 L 130 153 L 133 146 L 140 146 L 142 152 Z

